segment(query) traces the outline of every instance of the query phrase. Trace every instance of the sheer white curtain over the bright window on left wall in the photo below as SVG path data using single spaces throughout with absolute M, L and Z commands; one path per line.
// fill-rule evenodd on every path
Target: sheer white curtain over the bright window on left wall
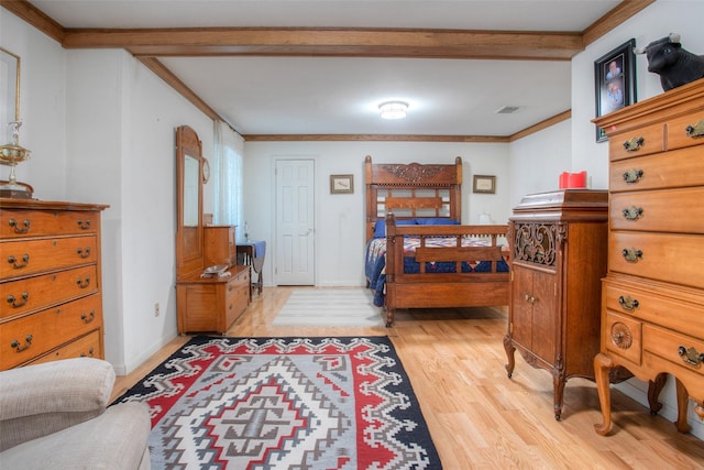
M 216 152 L 213 162 L 215 210 L 213 222 L 238 226 L 238 240 L 244 239 L 242 210 L 242 163 L 244 139 L 222 121 L 215 121 Z

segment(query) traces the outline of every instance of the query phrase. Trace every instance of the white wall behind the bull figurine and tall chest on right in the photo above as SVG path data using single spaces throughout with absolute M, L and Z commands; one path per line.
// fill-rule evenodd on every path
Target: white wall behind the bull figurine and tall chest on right
M 574 171 L 578 168 L 586 170 L 592 175 L 593 188 L 608 187 L 608 144 L 595 142 L 594 124 L 591 122 L 595 116 L 594 61 L 631 37 L 636 39 L 636 45 L 640 47 L 670 33 L 681 34 L 683 48 L 695 54 L 704 54 L 703 18 L 704 2 L 702 1 L 658 0 L 622 26 L 591 44 L 583 53 L 572 59 L 572 167 Z M 647 67 L 646 56 L 637 56 L 636 95 L 638 101 L 663 92 L 659 76 L 649 73 Z M 631 379 L 617 386 L 644 405 L 648 405 L 647 383 Z M 660 415 L 674 420 L 676 418 L 676 398 L 672 378 L 669 379 L 660 398 L 664 403 Z M 692 434 L 704 439 L 704 425 L 692 412 L 691 402 L 688 422 L 692 425 Z

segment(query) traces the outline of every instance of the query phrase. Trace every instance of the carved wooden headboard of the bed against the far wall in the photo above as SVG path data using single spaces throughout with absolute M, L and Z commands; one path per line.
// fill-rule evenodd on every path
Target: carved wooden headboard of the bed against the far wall
M 373 164 L 364 159 L 366 185 L 366 239 L 378 219 L 394 212 L 396 219 L 462 215 L 462 159 L 454 164 Z

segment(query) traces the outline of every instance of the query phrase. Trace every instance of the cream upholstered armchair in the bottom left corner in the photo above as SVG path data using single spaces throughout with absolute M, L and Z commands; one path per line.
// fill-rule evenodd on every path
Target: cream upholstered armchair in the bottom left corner
M 89 358 L 0 372 L 0 468 L 148 469 L 148 409 L 106 408 L 113 384 Z

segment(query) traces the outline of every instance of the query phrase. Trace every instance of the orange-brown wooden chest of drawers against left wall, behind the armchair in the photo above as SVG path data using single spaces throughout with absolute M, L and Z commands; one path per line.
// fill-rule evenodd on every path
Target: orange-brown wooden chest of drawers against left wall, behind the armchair
M 105 358 L 100 212 L 0 198 L 0 370 Z

